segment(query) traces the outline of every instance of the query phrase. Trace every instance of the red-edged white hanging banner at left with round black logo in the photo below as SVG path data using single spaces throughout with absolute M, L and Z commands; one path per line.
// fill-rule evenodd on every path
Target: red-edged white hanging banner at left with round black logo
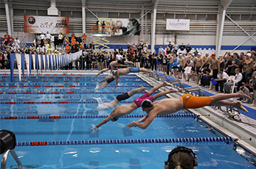
M 25 33 L 69 34 L 69 17 L 24 15 Z

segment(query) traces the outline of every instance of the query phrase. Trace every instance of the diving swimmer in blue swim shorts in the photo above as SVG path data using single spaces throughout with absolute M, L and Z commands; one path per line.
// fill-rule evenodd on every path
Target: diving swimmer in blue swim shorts
M 140 71 L 145 71 L 145 72 L 149 72 L 149 73 L 153 73 L 153 71 L 151 71 L 151 69 L 147 69 L 147 68 L 120 68 L 117 71 L 113 71 L 112 74 L 114 76 L 117 76 L 117 80 L 116 80 L 116 88 L 118 87 L 118 82 L 120 79 L 121 75 L 126 75 L 128 73 L 138 73 Z

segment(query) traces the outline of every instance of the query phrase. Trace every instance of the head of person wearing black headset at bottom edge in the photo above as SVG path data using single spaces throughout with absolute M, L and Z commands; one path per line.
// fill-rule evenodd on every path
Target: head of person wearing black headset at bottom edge
M 195 166 L 198 166 L 195 152 L 181 145 L 173 148 L 165 161 L 165 169 L 194 169 Z

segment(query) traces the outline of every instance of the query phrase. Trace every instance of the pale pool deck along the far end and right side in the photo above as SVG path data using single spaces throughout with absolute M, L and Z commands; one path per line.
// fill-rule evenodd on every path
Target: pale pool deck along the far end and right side
M 32 71 L 33 72 L 33 71 Z M 76 71 L 76 70 L 57 70 L 57 71 L 43 71 L 44 74 L 96 74 L 99 71 Z M 0 73 L 10 73 L 10 70 L 1 70 Z M 14 73 L 18 74 L 18 71 L 15 70 Z M 25 74 L 27 71 L 25 71 Z M 39 73 L 39 72 L 38 72 Z M 41 73 L 41 72 L 40 72 Z M 107 75 L 109 73 L 105 72 L 103 74 Z M 160 72 L 161 73 L 161 72 Z M 135 74 L 135 73 L 130 73 Z M 139 76 L 141 79 L 148 82 L 148 84 L 151 85 L 158 85 L 161 84 L 162 81 L 157 81 L 156 79 L 149 77 L 147 73 L 136 73 L 137 76 Z M 198 84 L 195 82 L 184 82 L 184 80 L 181 79 L 181 83 L 185 84 L 185 87 L 192 86 L 192 87 L 198 87 Z M 160 90 L 167 90 L 169 87 L 165 87 L 164 89 Z M 206 93 L 206 96 L 216 95 L 218 94 L 214 90 L 207 90 L 206 87 L 201 87 L 201 90 Z M 184 93 L 171 93 L 168 94 L 170 98 L 176 98 Z M 236 98 L 232 101 L 237 101 Z M 243 106 L 246 107 L 246 109 L 249 107 L 249 104 L 244 104 Z M 249 107 L 249 113 L 252 113 L 252 115 L 256 115 L 256 107 Z M 215 129 L 218 129 L 219 131 L 223 132 L 227 136 L 231 136 L 233 138 L 238 138 L 238 143 L 240 145 L 243 145 L 244 148 L 246 148 L 248 151 L 251 151 L 253 154 L 256 154 L 256 120 L 254 118 L 250 118 L 249 115 L 246 115 L 246 112 L 241 112 L 241 121 L 236 121 L 232 118 L 229 118 L 229 115 L 227 112 L 222 112 L 221 110 L 214 109 L 213 107 L 202 107 L 199 109 L 189 109 L 190 112 L 195 113 L 196 115 L 200 115 L 201 120 L 205 121 L 206 123 L 210 124 L 210 126 L 213 126 Z

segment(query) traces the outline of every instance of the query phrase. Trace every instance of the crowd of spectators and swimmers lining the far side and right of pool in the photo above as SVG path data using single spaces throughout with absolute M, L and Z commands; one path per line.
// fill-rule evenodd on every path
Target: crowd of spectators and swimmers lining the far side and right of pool
M 207 86 L 210 90 L 215 88 L 221 93 L 229 93 L 232 84 L 243 88 L 246 92 L 256 92 L 254 71 L 256 70 L 255 51 L 246 54 L 230 54 L 226 51 L 224 56 L 216 57 L 215 54 L 201 54 L 197 50 L 192 51 L 190 44 L 172 44 L 167 48 L 148 50 L 145 42 L 131 44 L 128 48 L 122 47 L 113 51 L 94 52 L 94 42 L 87 42 L 87 35 L 71 37 L 60 33 L 58 38 L 49 34 L 41 33 L 31 46 L 22 47 L 18 37 L 15 39 L 8 32 L 0 40 L 0 68 L 10 68 L 10 53 L 17 54 L 70 54 L 83 50 L 83 55 L 74 63 L 71 62 L 65 68 L 59 69 L 86 69 L 102 70 L 108 68 L 110 62 L 115 60 L 128 60 L 134 62 L 136 68 L 151 68 L 162 71 L 176 79 L 183 78 L 186 81 L 193 80 L 201 86 Z M 179 53 L 178 53 L 179 51 Z M 15 62 L 15 68 L 17 68 Z M 256 74 L 256 73 L 255 73 Z M 214 87 L 214 85 L 215 87 Z M 220 89 L 219 89 L 220 88 Z M 255 90 L 254 90 L 255 89 Z M 246 101 L 245 101 L 246 102 Z M 256 103 L 254 104 L 256 106 Z

